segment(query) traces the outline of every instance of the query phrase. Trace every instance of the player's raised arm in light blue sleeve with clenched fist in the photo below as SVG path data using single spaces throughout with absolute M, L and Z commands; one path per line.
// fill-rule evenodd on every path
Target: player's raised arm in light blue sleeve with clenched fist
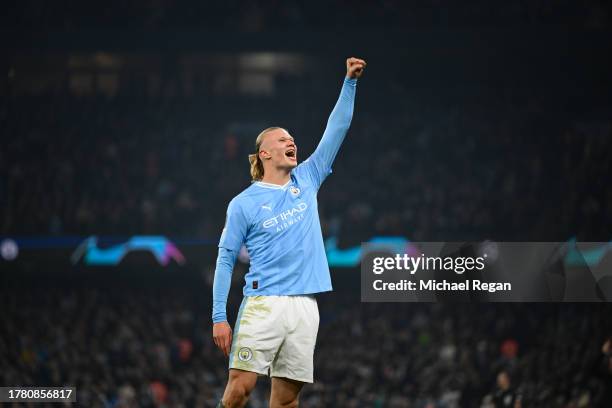
M 315 184 L 320 186 L 325 177 L 331 172 L 331 167 L 344 141 L 344 137 L 351 126 L 357 79 L 363 75 L 366 62 L 359 58 L 346 60 L 346 77 L 340 91 L 338 101 L 329 115 L 323 137 L 314 153 L 308 158 L 309 172 Z M 305 162 L 304 164 L 306 164 Z

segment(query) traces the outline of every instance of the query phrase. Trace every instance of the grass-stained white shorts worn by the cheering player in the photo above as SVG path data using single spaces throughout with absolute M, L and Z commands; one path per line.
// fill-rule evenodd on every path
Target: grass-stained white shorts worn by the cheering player
M 247 296 L 236 319 L 229 368 L 311 383 L 318 331 L 314 296 Z

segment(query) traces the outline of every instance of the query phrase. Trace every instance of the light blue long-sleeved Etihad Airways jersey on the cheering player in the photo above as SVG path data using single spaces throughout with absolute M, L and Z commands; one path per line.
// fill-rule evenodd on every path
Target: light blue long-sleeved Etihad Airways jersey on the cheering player
M 317 192 L 348 131 L 357 80 L 345 78 L 314 153 L 284 186 L 254 182 L 229 204 L 213 285 L 213 321 L 225 321 L 235 254 L 250 257 L 244 296 L 304 295 L 332 290 L 317 208 Z M 228 259 L 222 254 L 229 253 Z M 228 268 L 229 276 L 227 273 Z

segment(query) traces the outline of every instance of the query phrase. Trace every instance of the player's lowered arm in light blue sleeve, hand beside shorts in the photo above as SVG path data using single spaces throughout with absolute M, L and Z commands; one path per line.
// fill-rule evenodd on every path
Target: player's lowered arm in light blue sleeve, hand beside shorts
M 213 340 L 227 357 L 232 344 L 232 329 L 227 322 L 227 297 L 232 284 L 232 272 L 246 238 L 246 217 L 240 205 L 232 200 L 227 208 L 225 227 L 219 240 L 219 254 L 213 282 Z

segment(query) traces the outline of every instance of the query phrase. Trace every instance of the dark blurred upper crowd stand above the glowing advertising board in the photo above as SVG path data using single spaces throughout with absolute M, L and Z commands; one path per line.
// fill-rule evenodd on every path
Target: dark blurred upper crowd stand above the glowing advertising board
M 6 99 L 0 233 L 217 239 L 227 203 L 249 185 L 256 134 L 287 127 L 304 160 L 335 102 L 334 79 L 287 79 L 275 97 L 147 98 L 129 90 L 113 99 L 68 92 Z M 325 235 L 340 236 L 341 245 L 374 234 L 610 239 L 605 106 L 538 90 L 434 97 L 401 79 L 375 80 L 359 89 L 351 130 L 320 193 Z

